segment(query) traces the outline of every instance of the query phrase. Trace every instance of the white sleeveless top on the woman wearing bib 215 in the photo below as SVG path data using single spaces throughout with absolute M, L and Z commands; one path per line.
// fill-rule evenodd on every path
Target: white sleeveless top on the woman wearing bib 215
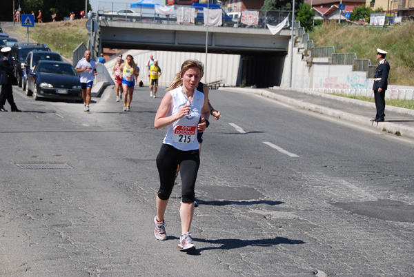
M 190 101 L 181 87 L 169 92 L 172 103 L 167 116 L 176 114 L 179 108 L 190 105 Z M 197 141 L 197 125 L 201 116 L 201 108 L 204 105 L 204 94 L 194 90 L 193 101 L 191 101 L 190 114 L 168 125 L 167 134 L 163 143 L 172 145 L 178 150 L 189 151 L 199 149 Z

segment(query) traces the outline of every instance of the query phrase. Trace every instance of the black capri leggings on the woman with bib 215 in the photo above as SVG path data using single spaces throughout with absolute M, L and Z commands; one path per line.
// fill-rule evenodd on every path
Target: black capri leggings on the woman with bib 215
M 157 156 L 159 173 L 158 197 L 168 200 L 175 183 L 177 165 L 180 168 L 182 182 L 181 197 L 183 203 L 193 203 L 195 200 L 195 181 L 200 166 L 199 150 L 181 151 L 172 145 L 163 144 Z

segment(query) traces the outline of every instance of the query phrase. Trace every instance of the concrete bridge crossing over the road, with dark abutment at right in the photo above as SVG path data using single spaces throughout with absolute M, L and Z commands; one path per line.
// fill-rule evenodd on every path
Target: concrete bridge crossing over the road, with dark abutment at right
M 95 45 L 102 48 L 206 52 L 206 26 L 98 21 Z M 280 85 L 291 30 L 209 27 L 208 52 L 239 54 L 237 85 Z M 97 49 L 97 50 L 98 50 Z M 97 54 L 97 53 L 95 53 Z

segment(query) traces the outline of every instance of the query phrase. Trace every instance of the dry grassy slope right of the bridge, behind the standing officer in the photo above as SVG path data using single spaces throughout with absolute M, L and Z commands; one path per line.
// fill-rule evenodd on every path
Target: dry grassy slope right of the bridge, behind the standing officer
M 388 83 L 414 85 L 414 22 L 393 28 L 324 23 L 309 33 L 315 46 L 334 46 L 336 53 L 355 52 L 358 59 L 370 59 L 377 65 L 377 48 L 386 50 L 386 60 L 391 65 Z M 381 39 L 378 39 L 381 38 Z

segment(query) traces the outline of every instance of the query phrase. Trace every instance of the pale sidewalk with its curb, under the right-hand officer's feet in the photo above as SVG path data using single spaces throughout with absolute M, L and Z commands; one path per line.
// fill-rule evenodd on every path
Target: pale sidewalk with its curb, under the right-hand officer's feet
M 219 88 L 219 90 L 248 92 L 266 96 L 270 99 L 302 107 L 304 110 L 319 112 L 320 114 L 366 125 L 366 127 L 372 127 L 392 134 L 399 133 L 401 136 L 414 139 L 414 110 L 386 105 L 386 121 L 372 123 L 370 119 L 375 117 L 375 103 L 366 101 L 319 92 L 299 92 L 297 90 L 254 88 Z

